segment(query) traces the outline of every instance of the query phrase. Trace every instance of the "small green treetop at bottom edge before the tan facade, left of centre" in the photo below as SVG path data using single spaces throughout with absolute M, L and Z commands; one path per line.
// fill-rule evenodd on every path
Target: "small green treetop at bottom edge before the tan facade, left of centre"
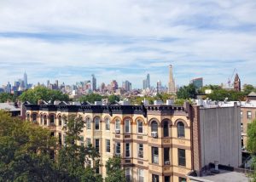
M 107 177 L 105 182 L 125 182 L 125 171 L 121 168 L 120 157 L 113 156 L 106 162 Z

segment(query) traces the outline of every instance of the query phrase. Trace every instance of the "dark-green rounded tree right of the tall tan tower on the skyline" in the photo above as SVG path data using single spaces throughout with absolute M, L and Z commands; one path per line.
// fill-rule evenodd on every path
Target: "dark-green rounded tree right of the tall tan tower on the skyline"
M 195 99 L 196 88 L 195 85 L 189 84 L 188 86 L 183 86 L 182 88 L 179 88 L 177 91 L 177 99 Z

